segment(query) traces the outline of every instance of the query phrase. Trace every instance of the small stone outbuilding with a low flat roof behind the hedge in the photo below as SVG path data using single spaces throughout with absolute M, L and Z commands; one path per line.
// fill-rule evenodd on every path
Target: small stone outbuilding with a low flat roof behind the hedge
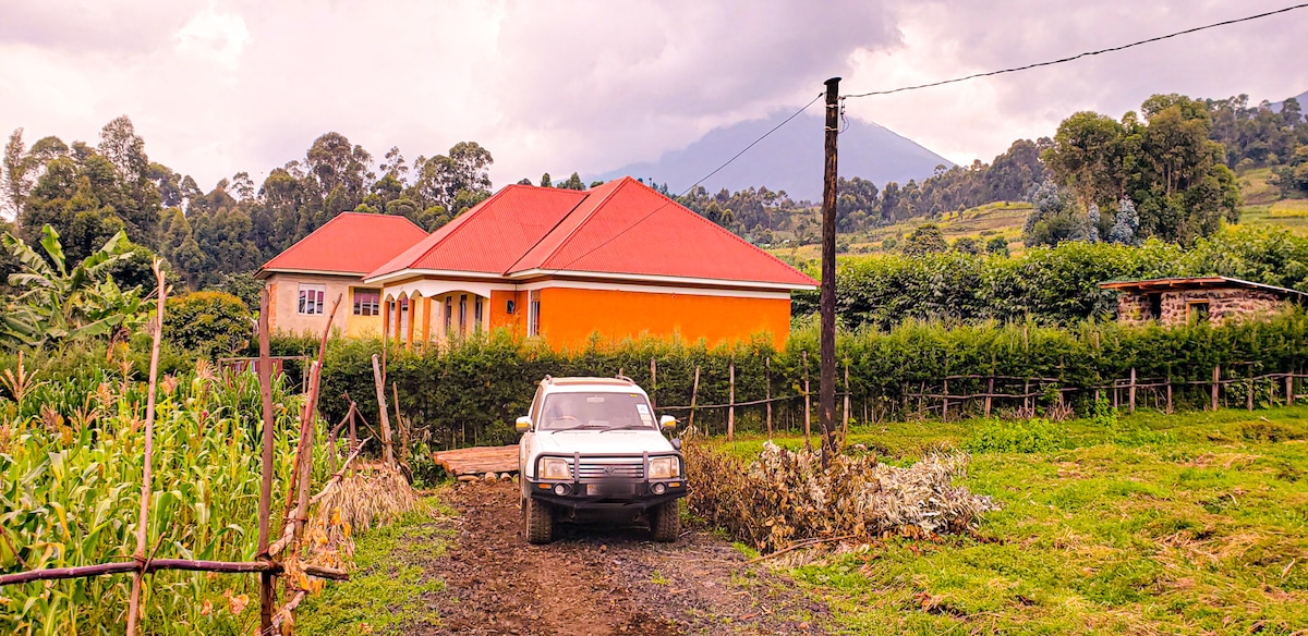
M 1224 276 L 1112 281 L 1099 283 L 1116 290 L 1117 320 L 1141 324 L 1158 320 L 1163 325 L 1228 321 L 1283 311 L 1288 303 L 1301 303 L 1308 294 L 1273 285 Z

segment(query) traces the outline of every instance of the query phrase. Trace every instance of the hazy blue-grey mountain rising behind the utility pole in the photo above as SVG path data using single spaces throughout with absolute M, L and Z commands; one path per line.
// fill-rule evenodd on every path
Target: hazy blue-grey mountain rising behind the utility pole
M 715 128 L 689 146 L 664 153 L 655 162 L 624 166 L 599 175 L 598 179 L 607 182 L 627 175 L 646 182 L 653 179 L 655 183 L 667 183 L 668 189 L 678 195 L 783 121 L 786 116 L 778 114 Z M 766 185 L 772 191 L 786 191 L 797 201 L 804 199 L 821 201 L 824 125 L 819 115 L 800 115 L 705 180 L 702 185 L 709 192 Z M 935 166 L 940 165 L 954 166 L 948 159 L 913 140 L 878 124 L 850 120 L 849 128 L 840 135 L 840 175 L 844 178 L 861 176 L 878 185 L 884 185 L 886 182 L 903 184 L 909 179 L 922 180 L 931 176 Z

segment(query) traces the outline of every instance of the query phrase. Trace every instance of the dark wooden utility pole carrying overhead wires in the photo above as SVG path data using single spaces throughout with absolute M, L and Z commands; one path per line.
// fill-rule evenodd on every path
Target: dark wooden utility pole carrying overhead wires
M 821 465 L 836 449 L 836 136 L 840 133 L 840 77 L 827 80 L 827 167 L 821 196 L 821 370 L 818 410 L 821 419 Z

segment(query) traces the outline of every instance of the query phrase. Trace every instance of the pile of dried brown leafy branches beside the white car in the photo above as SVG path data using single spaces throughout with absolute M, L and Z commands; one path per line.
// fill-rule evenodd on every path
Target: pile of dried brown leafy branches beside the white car
M 691 511 L 761 551 L 821 537 L 967 533 L 981 513 L 999 509 L 954 486 L 967 454 L 930 454 L 909 468 L 841 454 L 827 470 L 816 451 L 770 441 L 748 466 L 697 443 L 685 454 Z

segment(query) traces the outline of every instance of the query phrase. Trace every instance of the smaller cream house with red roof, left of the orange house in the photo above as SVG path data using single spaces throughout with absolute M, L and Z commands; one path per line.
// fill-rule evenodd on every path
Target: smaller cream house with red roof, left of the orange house
M 275 332 L 320 334 L 331 303 L 341 298 L 334 328 L 352 337 L 382 334 L 382 290 L 364 276 L 426 238 L 404 217 L 336 215 L 255 274 L 268 286 L 268 321 Z

